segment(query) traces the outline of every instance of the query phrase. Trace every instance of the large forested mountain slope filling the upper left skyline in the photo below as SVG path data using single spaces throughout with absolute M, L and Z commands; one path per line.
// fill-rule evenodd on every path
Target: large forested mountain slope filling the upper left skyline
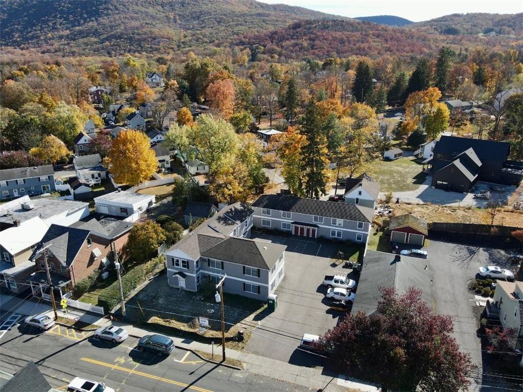
M 328 15 L 253 0 L 2 0 L 4 46 L 65 55 L 158 53 L 202 47 Z

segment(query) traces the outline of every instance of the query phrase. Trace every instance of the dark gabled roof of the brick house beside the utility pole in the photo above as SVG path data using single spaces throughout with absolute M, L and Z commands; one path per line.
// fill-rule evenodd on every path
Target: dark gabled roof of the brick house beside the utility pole
M 42 247 L 51 244 L 49 251 L 63 266 L 69 267 L 89 233 L 89 230 L 52 224 L 29 259 L 34 260 Z

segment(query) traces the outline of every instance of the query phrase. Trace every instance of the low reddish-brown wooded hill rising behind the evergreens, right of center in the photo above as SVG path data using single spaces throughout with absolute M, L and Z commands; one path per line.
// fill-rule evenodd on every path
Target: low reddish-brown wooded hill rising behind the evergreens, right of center
M 306 59 L 333 55 L 418 56 L 434 53 L 442 45 L 453 45 L 458 50 L 477 45 L 507 48 L 517 41 L 517 38 L 508 37 L 444 36 L 356 20 L 306 20 L 284 29 L 248 34 L 234 40 L 234 43 L 251 50 L 261 46 L 265 48 L 265 54 L 276 54 L 283 59 Z

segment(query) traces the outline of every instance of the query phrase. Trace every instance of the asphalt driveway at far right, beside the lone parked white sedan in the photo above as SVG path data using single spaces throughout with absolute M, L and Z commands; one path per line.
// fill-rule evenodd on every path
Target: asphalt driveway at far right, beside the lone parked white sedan
M 475 372 L 479 379 L 476 379 L 475 383 L 480 384 L 483 372 L 499 372 L 488 370 L 483 365 L 481 342 L 476 331 L 479 328 L 479 315 L 484 306 L 477 306 L 476 302 L 479 300 L 484 303 L 485 298 L 475 297 L 476 294 L 468 290 L 467 284 L 476 278 L 479 267 L 488 264 L 506 268 L 510 252 L 496 248 L 446 243 L 435 239 L 430 239 L 427 250 L 434 280 L 434 312 L 452 316 L 453 336 L 458 341 L 461 351 L 469 353 L 472 362 L 478 366 Z M 483 384 L 493 383 L 485 379 Z M 481 390 L 495 392 L 497 389 L 483 386 Z

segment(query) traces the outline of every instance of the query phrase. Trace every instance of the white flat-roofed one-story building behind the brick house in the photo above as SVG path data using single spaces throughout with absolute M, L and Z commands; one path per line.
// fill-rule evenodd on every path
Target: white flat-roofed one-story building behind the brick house
M 131 217 L 134 222 L 140 218 L 140 213 L 152 207 L 154 195 L 117 190 L 94 199 L 95 209 L 99 214 Z

